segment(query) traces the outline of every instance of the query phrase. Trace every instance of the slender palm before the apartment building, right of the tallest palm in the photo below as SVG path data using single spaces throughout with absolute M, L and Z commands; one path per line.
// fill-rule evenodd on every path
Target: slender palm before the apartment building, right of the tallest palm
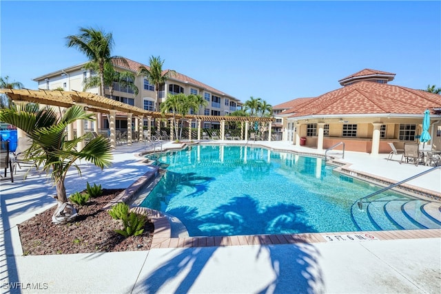
M 167 81 L 168 78 L 174 76 L 176 72 L 174 70 L 163 71 L 163 64 L 165 60 L 161 60 L 160 56 L 150 56 L 149 67 L 141 66 L 138 70 L 139 76 L 145 76 L 149 80 L 149 83 L 154 85 L 154 90 L 156 92 L 155 97 L 155 107 L 159 109 L 159 89 L 161 85 Z

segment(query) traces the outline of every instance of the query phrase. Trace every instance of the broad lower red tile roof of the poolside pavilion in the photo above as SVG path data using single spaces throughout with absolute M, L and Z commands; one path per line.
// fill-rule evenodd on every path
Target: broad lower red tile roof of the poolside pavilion
M 291 117 L 333 114 L 422 114 L 441 107 L 441 96 L 369 81 L 353 83 L 310 99 Z

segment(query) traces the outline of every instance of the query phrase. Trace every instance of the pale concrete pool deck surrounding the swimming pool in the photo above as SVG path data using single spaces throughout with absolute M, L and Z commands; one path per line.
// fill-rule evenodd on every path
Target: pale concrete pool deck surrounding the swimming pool
M 280 141 L 248 144 L 324 154 Z M 69 174 L 67 193 L 86 182 L 107 189 L 130 187 L 152 170 L 138 156 L 144 150 L 143 143 L 118 146 L 114 165 L 103 171 L 80 162 L 82 177 L 76 171 Z M 347 151 L 338 161 L 347 164 L 352 175 L 386 182 L 430 169 L 400 165 L 399 156 L 388 161 L 387 155 Z M 19 170 L 14 183 L 1 181 L 1 293 L 441 292 L 441 229 L 171 238 L 170 224 L 158 215 L 148 251 L 24 256 L 17 224 L 52 207 L 55 189 L 39 171 L 22 179 Z M 412 191 L 441 197 L 441 169 L 407 185 Z

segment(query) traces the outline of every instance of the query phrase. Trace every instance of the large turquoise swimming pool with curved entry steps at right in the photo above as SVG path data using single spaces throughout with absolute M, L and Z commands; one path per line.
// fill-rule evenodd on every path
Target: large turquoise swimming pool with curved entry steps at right
M 141 207 L 175 216 L 190 236 L 441 227 L 421 209 L 427 202 L 390 190 L 360 211 L 357 200 L 381 187 L 342 176 L 322 158 L 196 145 L 158 162 L 167 172 Z

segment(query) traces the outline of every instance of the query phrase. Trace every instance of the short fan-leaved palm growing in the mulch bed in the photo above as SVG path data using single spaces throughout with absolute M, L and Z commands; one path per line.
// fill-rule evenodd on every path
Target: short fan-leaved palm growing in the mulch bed
M 81 151 L 76 150 L 76 144 L 88 135 L 67 139 L 68 124 L 76 120 L 92 120 L 92 114 L 79 105 L 73 105 L 60 117 L 53 108 L 39 109 L 39 105 L 28 103 L 17 108 L 0 109 L 0 120 L 23 129 L 32 140 L 25 158 L 34 161 L 37 167 L 42 165 L 43 170 L 51 174 L 52 183 L 57 187 L 58 202 L 52 222 L 73 220 L 76 209 L 68 202 L 64 183 L 70 167 L 75 167 L 81 176 L 77 160 L 92 162 L 103 169 L 110 165 L 112 159 L 110 143 L 103 136 L 90 140 Z

